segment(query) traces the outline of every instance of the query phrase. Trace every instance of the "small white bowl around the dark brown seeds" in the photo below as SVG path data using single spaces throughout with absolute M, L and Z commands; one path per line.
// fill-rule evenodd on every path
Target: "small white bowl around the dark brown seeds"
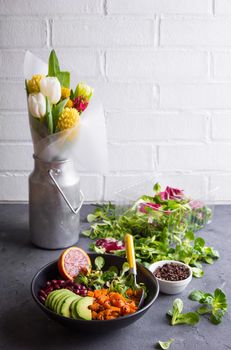
M 181 261 L 175 261 L 175 260 L 160 260 L 152 265 L 149 266 L 149 270 L 154 273 L 158 267 L 162 267 L 164 264 L 170 264 L 170 263 L 177 263 L 179 265 L 184 265 L 189 268 L 190 274 L 189 277 L 181 280 L 181 281 L 166 281 L 160 278 L 157 278 L 157 281 L 159 283 L 160 291 L 165 294 L 178 294 L 181 293 L 187 285 L 192 280 L 192 269 L 190 266 L 182 263 Z

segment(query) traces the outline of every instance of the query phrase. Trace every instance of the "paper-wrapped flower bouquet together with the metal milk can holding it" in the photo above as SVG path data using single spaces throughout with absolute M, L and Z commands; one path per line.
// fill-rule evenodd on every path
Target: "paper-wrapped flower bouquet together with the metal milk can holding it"
M 32 242 L 64 248 L 79 237 L 83 193 L 76 169 L 106 170 L 103 110 L 90 86 L 70 88 L 70 73 L 60 69 L 54 50 L 48 66 L 27 52 L 24 74 L 35 159 L 29 177 Z

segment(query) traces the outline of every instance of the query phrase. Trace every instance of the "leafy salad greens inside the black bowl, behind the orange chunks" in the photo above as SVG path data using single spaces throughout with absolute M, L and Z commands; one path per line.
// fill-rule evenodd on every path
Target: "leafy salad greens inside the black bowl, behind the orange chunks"
M 108 288 L 109 291 L 118 292 L 126 297 L 126 291 L 134 287 L 133 275 L 130 275 L 129 264 L 125 262 L 122 270 L 119 272 L 116 266 L 110 266 L 108 270 L 103 271 L 105 265 L 104 258 L 98 256 L 95 261 L 95 270 L 87 274 L 80 273 L 75 278 L 75 282 L 84 284 L 87 288 L 102 289 Z M 143 283 L 139 284 L 140 288 L 145 290 Z

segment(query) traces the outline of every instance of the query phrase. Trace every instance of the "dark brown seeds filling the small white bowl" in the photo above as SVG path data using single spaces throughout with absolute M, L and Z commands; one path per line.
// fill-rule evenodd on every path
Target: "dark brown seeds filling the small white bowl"
M 155 277 L 166 281 L 182 281 L 189 275 L 189 268 L 177 263 L 166 263 L 154 271 Z

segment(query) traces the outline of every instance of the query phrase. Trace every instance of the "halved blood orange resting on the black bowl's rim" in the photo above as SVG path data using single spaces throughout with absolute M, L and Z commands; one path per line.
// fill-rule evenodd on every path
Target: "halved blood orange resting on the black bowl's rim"
M 60 255 L 58 269 L 63 278 L 73 280 L 80 272 L 91 269 L 91 259 L 83 249 L 70 247 Z

